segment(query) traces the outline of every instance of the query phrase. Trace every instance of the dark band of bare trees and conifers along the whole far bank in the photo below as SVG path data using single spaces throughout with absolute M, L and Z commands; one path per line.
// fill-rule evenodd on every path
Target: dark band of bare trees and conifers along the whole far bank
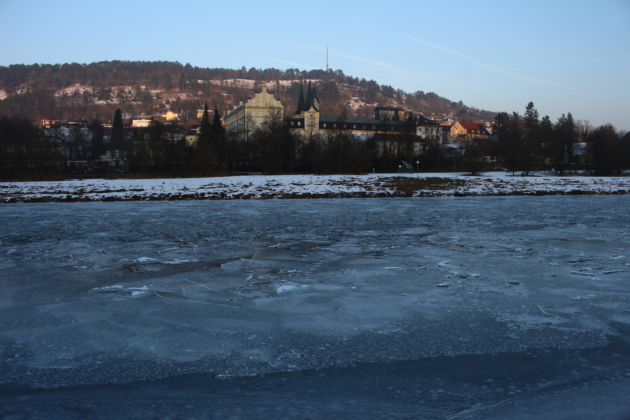
M 456 144 L 424 137 L 419 141 L 413 116 L 402 133 L 375 133 L 365 139 L 346 130 L 314 133 L 290 130 L 281 113 L 263 123 L 245 121 L 238 130 L 222 128 L 221 111 L 207 103 L 196 138 L 183 127 L 154 120 L 149 127 L 125 128 L 121 111 L 112 127 L 99 120 L 58 130 L 23 118 L 0 117 L 0 176 L 4 179 L 59 179 L 69 175 L 210 176 L 217 173 L 268 174 L 392 173 L 401 161 L 420 171 L 481 174 L 509 169 L 529 175 L 554 169 L 558 174 L 589 171 L 619 174 L 630 169 L 630 135 L 610 124 L 592 127 L 571 113 L 556 123 L 539 118 L 533 103 L 525 114 L 501 112 L 489 139 L 457 137 Z M 345 118 L 338 118 L 343 127 Z M 417 163 L 416 163 L 417 162 Z

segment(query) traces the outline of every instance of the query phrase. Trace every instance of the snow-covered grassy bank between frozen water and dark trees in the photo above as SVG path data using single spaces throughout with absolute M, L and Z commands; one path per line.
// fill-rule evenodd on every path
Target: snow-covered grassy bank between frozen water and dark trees
M 278 175 L 2 182 L 0 203 L 630 193 L 629 177 L 461 174 Z

